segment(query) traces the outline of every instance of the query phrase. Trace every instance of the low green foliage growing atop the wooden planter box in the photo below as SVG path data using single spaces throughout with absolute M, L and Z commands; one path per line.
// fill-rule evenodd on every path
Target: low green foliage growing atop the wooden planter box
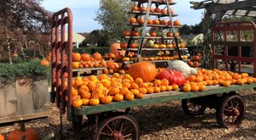
M 42 66 L 39 59 L 21 63 L 0 64 L 0 82 L 12 82 L 17 77 L 31 77 L 34 80 L 49 78 L 49 67 Z

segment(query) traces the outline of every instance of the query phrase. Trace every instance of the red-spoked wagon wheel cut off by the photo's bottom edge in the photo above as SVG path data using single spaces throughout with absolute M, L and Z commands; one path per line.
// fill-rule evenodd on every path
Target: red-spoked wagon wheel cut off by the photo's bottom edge
M 138 140 L 139 127 L 131 115 L 117 115 L 103 120 L 98 127 L 96 140 Z

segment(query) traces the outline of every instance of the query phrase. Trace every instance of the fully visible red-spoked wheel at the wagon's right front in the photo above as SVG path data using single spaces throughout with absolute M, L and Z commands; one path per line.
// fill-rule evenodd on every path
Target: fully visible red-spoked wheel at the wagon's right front
M 239 126 L 245 115 L 245 104 L 240 95 L 224 97 L 220 107 L 216 109 L 218 125 L 225 128 Z

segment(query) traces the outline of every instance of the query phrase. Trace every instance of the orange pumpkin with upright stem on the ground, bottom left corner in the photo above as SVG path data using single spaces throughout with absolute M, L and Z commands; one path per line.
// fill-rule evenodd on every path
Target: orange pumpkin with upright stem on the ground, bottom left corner
M 8 140 L 17 140 L 21 139 L 21 137 L 26 136 L 26 140 L 38 140 L 38 132 L 36 132 L 32 128 L 25 128 L 25 124 L 23 120 L 20 120 L 20 129 L 16 129 L 13 132 L 9 133 L 7 137 Z

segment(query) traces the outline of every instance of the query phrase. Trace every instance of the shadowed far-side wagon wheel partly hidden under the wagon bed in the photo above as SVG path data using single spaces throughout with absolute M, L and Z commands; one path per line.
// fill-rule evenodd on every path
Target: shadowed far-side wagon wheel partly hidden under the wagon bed
M 191 99 L 183 99 L 182 107 L 186 115 L 202 115 L 207 109 L 205 105 L 196 104 Z

